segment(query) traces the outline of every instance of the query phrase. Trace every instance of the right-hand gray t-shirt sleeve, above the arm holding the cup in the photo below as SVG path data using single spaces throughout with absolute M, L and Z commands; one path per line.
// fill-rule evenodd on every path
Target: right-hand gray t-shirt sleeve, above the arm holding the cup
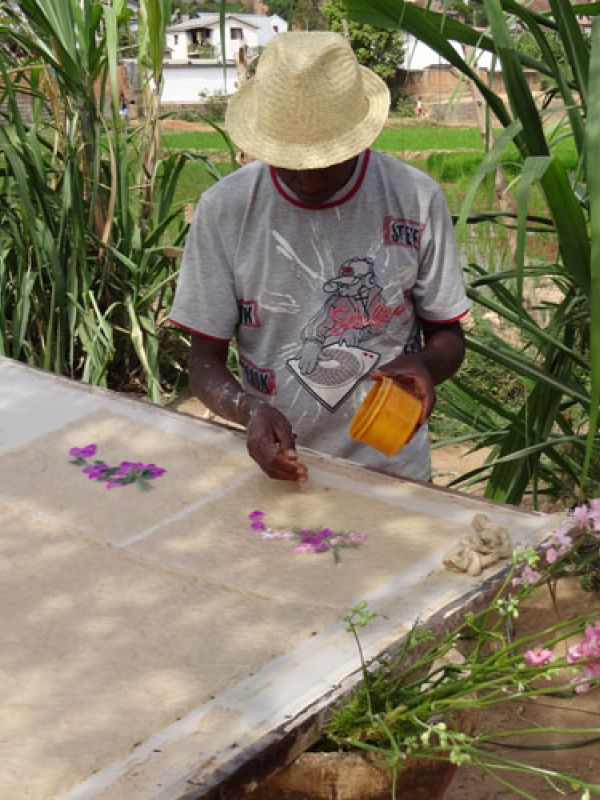
M 423 231 L 413 300 L 418 316 L 428 322 L 455 321 L 471 306 L 458 263 L 454 226 L 439 187 L 431 198 Z

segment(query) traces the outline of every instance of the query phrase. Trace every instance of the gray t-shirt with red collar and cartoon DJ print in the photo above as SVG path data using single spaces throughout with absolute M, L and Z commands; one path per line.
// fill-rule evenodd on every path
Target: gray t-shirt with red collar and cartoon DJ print
M 420 347 L 419 318 L 469 308 L 439 186 L 366 151 L 319 208 L 253 162 L 203 193 L 186 241 L 171 320 L 237 338 L 244 388 L 279 408 L 300 445 L 427 480 L 427 426 L 393 458 L 348 426 L 369 373 Z

